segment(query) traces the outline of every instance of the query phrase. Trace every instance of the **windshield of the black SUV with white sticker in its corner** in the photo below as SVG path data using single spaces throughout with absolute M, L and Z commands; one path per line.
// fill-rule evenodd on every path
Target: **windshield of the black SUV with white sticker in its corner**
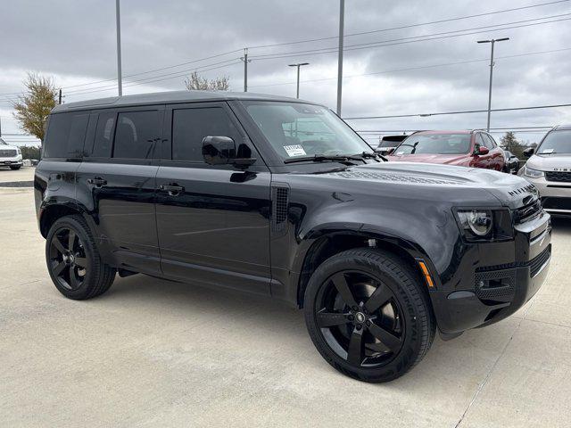
M 276 102 L 244 102 L 244 105 L 284 160 L 373 152 L 352 128 L 325 107 Z

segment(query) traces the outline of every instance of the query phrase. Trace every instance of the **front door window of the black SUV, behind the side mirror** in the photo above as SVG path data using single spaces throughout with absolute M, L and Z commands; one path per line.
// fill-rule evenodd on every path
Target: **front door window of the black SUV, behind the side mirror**
M 201 107 L 172 111 L 173 161 L 203 162 L 203 138 L 229 136 L 238 150 L 242 136 L 221 107 Z

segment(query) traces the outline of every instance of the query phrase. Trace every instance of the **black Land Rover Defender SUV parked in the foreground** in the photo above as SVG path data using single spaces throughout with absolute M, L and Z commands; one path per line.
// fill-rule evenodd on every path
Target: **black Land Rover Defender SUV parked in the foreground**
M 343 374 L 385 382 L 513 314 L 550 263 L 520 177 L 386 162 L 332 111 L 175 92 L 57 106 L 35 177 L 47 267 L 70 299 L 136 273 L 302 308 Z

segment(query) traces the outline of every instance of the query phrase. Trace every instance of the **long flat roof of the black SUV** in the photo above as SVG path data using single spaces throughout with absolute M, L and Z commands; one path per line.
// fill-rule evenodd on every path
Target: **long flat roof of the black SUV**
M 199 101 L 229 101 L 229 100 L 256 100 L 256 101 L 282 101 L 294 103 L 310 103 L 308 101 L 288 98 L 285 96 L 252 94 L 251 92 L 214 92 L 214 91 L 169 91 L 153 94 L 112 96 L 95 100 L 79 101 L 56 105 L 53 113 L 62 111 L 103 109 L 107 107 L 125 107 L 129 105 L 145 105 L 160 103 L 193 103 Z

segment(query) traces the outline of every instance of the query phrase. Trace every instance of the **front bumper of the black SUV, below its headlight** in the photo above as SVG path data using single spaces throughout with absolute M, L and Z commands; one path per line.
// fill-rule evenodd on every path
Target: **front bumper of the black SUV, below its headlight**
M 465 283 L 454 290 L 430 292 L 442 333 L 454 334 L 490 325 L 520 309 L 540 289 L 551 259 L 550 215 L 516 226 L 514 258 L 501 265 L 473 265 Z M 490 244 L 482 244 L 481 247 Z M 480 251 L 486 252 L 484 248 Z

